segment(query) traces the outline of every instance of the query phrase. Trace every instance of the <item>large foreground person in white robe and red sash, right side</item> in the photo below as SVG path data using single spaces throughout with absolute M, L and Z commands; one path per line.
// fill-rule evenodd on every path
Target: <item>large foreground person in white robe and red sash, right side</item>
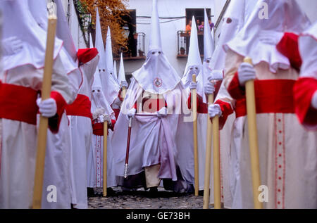
M 268 20 L 259 18 L 261 4 L 270 8 Z M 299 34 L 309 24 L 296 1 L 261 0 L 242 30 L 225 44 L 224 84 L 236 114 L 232 208 L 254 208 L 244 89 L 250 79 L 255 79 L 261 184 L 268 189 L 263 207 L 316 208 L 317 135 L 297 122 L 292 89 L 299 72 L 277 49 L 285 32 Z M 254 67 L 243 63 L 245 56 L 251 57 Z

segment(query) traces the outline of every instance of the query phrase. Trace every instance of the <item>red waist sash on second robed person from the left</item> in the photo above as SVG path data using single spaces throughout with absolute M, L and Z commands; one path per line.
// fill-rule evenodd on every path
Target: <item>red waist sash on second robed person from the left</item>
M 66 106 L 67 115 L 83 116 L 92 119 L 92 103 L 89 98 L 83 94 L 78 94 L 75 101 Z

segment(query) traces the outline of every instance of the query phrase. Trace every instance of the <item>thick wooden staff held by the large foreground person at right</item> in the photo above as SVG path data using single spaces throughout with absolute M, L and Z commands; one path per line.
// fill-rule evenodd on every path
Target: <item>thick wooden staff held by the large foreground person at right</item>
M 245 63 L 252 65 L 252 60 L 249 57 L 244 58 Z M 245 83 L 246 98 L 247 98 L 247 119 L 249 128 L 249 150 L 251 158 L 251 173 L 252 173 L 252 185 L 253 185 L 253 199 L 254 208 L 263 208 L 262 203 L 259 200 L 259 186 L 261 185 L 261 174 L 259 165 L 259 148 L 258 148 L 258 136 L 256 129 L 256 103 L 254 94 L 254 80 L 249 80 Z

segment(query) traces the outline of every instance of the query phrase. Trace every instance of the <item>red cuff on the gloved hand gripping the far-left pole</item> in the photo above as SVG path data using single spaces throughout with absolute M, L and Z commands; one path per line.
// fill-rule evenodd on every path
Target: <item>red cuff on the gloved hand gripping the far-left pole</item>
M 63 96 L 57 91 L 51 91 L 51 98 L 56 101 L 57 112 L 53 117 L 49 117 L 49 129 L 52 133 L 57 133 L 59 129 L 59 124 L 61 123 L 61 117 L 67 106 L 67 103 Z

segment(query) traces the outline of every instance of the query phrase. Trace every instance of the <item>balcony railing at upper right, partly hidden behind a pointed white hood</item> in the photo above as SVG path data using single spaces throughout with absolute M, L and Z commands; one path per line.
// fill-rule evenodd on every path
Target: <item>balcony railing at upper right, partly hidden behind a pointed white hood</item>
M 189 51 L 190 32 L 178 31 L 178 58 L 187 57 Z M 204 32 L 198 32 L 198 46 L 201 56 L 204 56 Z

